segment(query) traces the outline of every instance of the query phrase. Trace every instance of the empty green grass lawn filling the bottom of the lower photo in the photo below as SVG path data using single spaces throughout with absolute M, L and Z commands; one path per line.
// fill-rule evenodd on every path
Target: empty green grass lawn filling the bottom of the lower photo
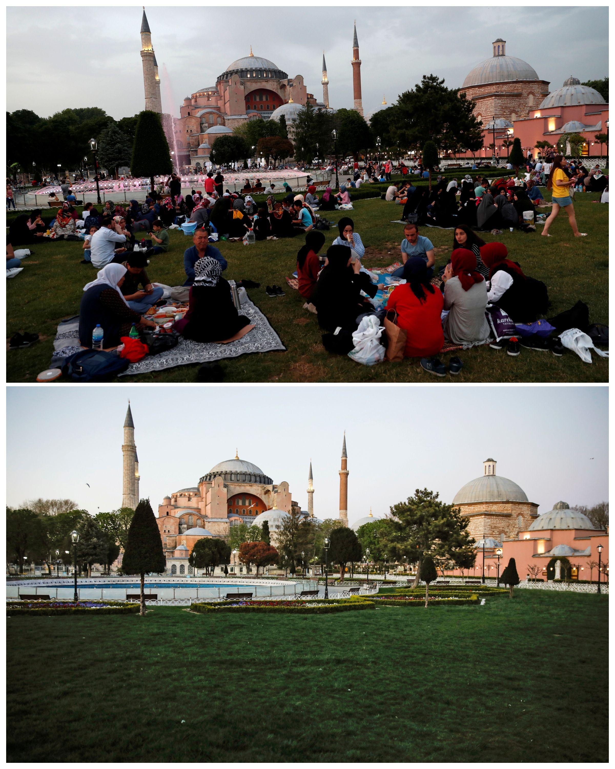
M 8 761 L 607 761 L 608 597 L 9 618 Z

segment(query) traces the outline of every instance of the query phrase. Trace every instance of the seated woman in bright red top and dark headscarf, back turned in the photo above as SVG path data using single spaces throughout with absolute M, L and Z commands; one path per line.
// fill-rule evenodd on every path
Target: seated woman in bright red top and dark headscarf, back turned
M 429 358 L 444 346 L 442 292 L 430 284 L 427 262 L 414 256 L 404 265 L 407 281 L 397 286 L 387 302 L 387 311 L 397 312 L 397 325 L 407 331 L 406 358 Z

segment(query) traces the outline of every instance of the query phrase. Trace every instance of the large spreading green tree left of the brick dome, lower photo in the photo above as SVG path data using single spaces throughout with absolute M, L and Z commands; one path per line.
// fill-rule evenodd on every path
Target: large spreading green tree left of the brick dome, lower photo
M 407 558 L 408 563 L 418 564 L 415 586 L 425 555 L 454 564 L 465 564 L 474 555 L 467 518 L 462 518 L 459 508 L 438 497 L 437 492 L 417 489 L 414 497 L 391 507 L 388 551 L 397 561 Z

